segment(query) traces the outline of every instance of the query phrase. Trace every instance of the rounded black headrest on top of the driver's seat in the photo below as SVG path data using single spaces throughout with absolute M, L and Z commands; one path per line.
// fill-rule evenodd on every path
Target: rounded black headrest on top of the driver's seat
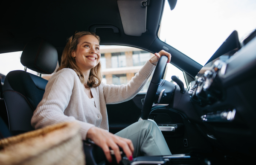
M 52 74 L 58 61 L 55 47 L 43 38 L 34 38 L 23 49 L 20 62 L 24 67 L 43 74 Z

